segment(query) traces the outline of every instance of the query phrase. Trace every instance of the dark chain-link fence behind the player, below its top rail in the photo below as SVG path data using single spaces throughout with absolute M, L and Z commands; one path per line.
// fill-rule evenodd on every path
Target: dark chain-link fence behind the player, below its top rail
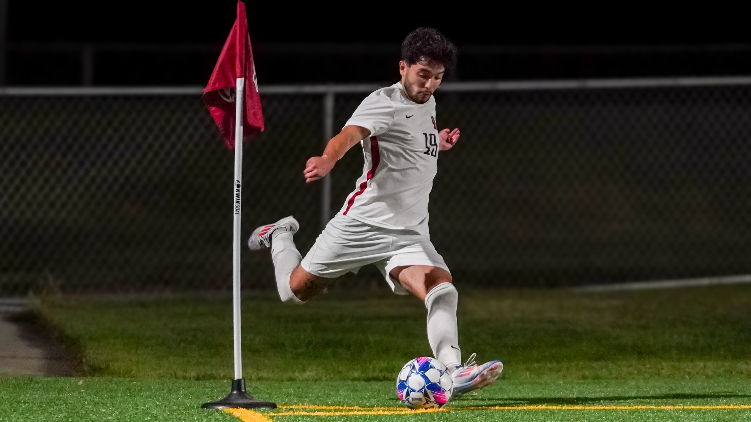
M 243 236 L 294 214 L 307 252 L 321 196 L 338 211 L 363 159 L 345 155 L 330 195 L 304 164 L 369 88 L 262 92 Z M 230 289 L 232 152 L 198 93 L 157 91 L 0 96 L 0 295 Z M 748 81 L 447 85 L 436 100 L 439 127 L 462 130 L 430 199 L 457 283 L 751 272 Z M 243 286 L 274 286 L 268 253 L 243 252 Z

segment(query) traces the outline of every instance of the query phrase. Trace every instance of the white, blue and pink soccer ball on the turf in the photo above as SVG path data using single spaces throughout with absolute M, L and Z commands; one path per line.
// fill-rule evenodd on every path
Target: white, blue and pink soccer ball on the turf
M 397 377 L 397 396 L 409 409 L 440 408 L 451 399 L 454 379 L 437 359 L 412 359 Z

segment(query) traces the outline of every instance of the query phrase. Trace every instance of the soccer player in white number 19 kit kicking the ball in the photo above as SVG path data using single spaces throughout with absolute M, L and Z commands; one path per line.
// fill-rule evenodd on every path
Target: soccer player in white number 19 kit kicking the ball
M 428 232 L 439 151 L 459 139 L 458 129 L 438 130 L 433 91 L 456 60 L 456 46 L 436 29 L 412 31 L 402 43 L 401 81 L 366 97 L 324 154 L 308 160 L 306 182 L 324 177 L 358 142 L 365 154 L 354 192 L 304 259 L 292 238 L 300 227 L 294 217 L 260 226 L 248 240 L 251 250 L 271 248 L 282 301 L 304 304 L 337 277 L 368 264 L 379 268 L 397 295 L 424 301 L 428 341 L 451 371 L 454 397 L 493 384 L 503 370 L 499 361 L 475 364 L 474 354 L 461 364 L 459 295 Z

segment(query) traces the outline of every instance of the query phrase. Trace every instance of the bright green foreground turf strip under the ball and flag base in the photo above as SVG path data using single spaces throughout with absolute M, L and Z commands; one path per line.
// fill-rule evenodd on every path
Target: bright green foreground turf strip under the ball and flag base
M 83 381 L 82 384 L 79 384 Z M 223 396 L 225 381 L 166 379 L 0 379 L 0 421 L 237 421 L 198 409 Z M 399 406 L 392 382 L 270 382 L 252 392 L 281 405 Z M 749 409 L 461 410 L 478 406 L 751 405 L 748 379 L 504 380 L 423 415 L 275 416 L 273 421 L 743 421 Z

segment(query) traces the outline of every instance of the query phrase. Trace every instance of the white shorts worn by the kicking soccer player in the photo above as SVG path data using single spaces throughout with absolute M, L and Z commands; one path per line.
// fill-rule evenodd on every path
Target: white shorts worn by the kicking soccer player
M 363 265 L 375 264 L 397 295 L 406 290 L 391 280 L 391 270 L 406 265 L 430 265 L 448 271 L 430 238 L 412 230 L 383 229 L 336 214 L 300 265 L 318 277 L 357 274 Z M 449 271 L 451 272 L 451 271 Z

